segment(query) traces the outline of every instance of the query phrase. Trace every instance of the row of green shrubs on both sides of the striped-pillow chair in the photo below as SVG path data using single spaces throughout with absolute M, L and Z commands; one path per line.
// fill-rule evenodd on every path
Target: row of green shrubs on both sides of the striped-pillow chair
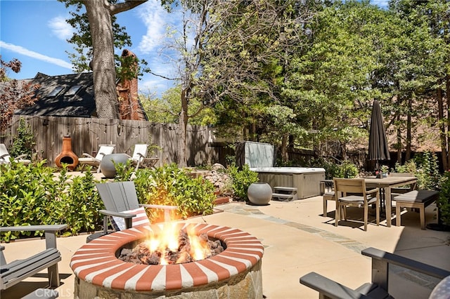
M 100 230 L 104 208 L 96 191 L 91 168 L 82 176 L 69 178 L 67 168 L 44 166 L 46 161 L 25 166 L 20 163 L 0 164 L 0 226 L 67 224 L 64 235 Z M 134 180 L 141 204 L 179 206 L 182 217 L 213 212 L 214 185 L 203 178 L 193 178 L 175 164 L 155 169 L 139 169 L 134 173 L 130 163 L 117 164 L 115 180 Z M 148 211 L 152 211 L 149 209 Z M 162 211 L 150 215 L 162 218 Z M 150 213 L 153 214 L 153 213 Z M 32 232 L 6 232 L 1 241 L 10 241 Z M 36 232 L 34 236 L 41 236 Z

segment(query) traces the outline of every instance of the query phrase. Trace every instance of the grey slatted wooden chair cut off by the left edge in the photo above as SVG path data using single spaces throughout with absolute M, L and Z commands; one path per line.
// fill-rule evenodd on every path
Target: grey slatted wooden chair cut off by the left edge
M 6 263 L 4 256 L 4 246 L 0 250 L 0 290 L 6 290 L 23 279 L 31 277 L 45 268 L 49 273 L 49 286 L 56 287 L 60 285 L 58 272 L 58 262 L 61 260 L 61 254 L 56 248 L 56 232 L 65 230 L 68 225 L 28 225 L 15 227 L 0 227 L 0 232 L 18 232 L 18 231 L 44 231 L 46 249 L 23 260 L 14 260 Z M 31 295 L 31 294 L 30 294 Z M 44 297 L 44 295 L 41 296 Z M 52 298 L 52 297 L 49 297 Z M 53 297 L 54 298 L 54 297 Z

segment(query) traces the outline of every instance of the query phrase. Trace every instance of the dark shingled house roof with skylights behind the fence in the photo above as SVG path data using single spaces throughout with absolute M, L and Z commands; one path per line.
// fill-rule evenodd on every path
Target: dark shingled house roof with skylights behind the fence
M 24 80 L 39 84 L 39 100 L 15 114 L 48 117 L 96 117 L 94 98 L 94 73 L 48 76 L 37 73 L 33 79 Z

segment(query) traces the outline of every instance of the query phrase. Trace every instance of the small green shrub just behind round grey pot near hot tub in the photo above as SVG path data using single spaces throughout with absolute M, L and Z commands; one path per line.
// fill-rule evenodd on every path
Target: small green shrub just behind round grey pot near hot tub
M 231 177 L 233 197 L 243 201 L 249 201 L 247 190 L 253 182 L 258 181 L 258 173 L 250 171 L 250 166 L 248 166 L 248 164 L 244 164 L 242 169 L 239 170 L 234 163 L 226 168 L 226 171 Z

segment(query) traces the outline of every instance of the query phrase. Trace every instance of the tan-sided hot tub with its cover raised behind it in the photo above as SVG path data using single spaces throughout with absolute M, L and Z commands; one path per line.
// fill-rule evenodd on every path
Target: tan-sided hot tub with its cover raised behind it
M 272 187 L 296 187 L 299 199 L 321 195 L 321 180 L 325 180 L 324 168 L 308 167 L 253 167 L 259 182 Z

